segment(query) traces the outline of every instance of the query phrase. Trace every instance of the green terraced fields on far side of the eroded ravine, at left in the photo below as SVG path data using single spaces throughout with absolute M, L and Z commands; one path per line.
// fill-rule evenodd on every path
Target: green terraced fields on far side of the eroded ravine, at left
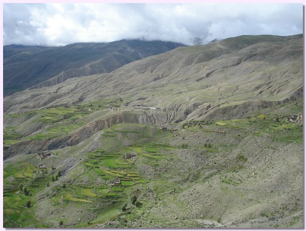
M 87 122 L 84 120 L 88 115 L 97 111 L 106 111 L 108 107 L 119 108 L 122 104 L 123 101 L 116 99 L 94 99 L 90 102 L 82 102 L 78 106 L 57 107 L 5 115 L 5 120 L 18 118 L 18 120 L 24 120 L 24 125 L 21 123 L 18 128 L 6 125 L 4 129 L 4 146 L 29 139 L 45 140 L 67 136 L 69 133 L 86 125 Z M 31 120 L 30 123 L 29 120 Z M 22 131 L 27 130 L 29 126 L 35 127 L 33 124 L 39 123 L 41 123 L 41 126 L 33 134 L 27 134 Z

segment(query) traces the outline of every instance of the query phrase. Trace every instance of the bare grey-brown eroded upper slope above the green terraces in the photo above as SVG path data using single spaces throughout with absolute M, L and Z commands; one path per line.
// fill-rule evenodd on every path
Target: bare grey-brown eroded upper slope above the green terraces
M 250 111 L 264 107 L 265 101 L 277 103 L 301 97 L 302 75 L 302 37 L 242 36 L 179 47 L 110 74 L 16 93 L 4 98 L 4 112 L 116 95 L 128 99 L 131 107 L 143 104 L 165 109 L 167 122 L 220 117 L 225 115 L 220 109 L 245 102 Z M 244 112 L 238 110 L 229 116 Z

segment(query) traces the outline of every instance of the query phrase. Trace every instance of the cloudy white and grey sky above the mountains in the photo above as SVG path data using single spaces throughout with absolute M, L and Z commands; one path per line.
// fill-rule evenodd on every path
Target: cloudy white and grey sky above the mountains
M 239 35 L 303 33 L 302 4 L 4 4 L 4 45 L 143 39 L 191 45 Z

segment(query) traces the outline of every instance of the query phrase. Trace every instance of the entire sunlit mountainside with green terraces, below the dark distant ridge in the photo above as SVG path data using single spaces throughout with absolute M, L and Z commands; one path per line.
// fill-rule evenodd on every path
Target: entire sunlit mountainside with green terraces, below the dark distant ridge
M 5 97 L 4 226 L 303 227 L 302 49 L 240 36 Z

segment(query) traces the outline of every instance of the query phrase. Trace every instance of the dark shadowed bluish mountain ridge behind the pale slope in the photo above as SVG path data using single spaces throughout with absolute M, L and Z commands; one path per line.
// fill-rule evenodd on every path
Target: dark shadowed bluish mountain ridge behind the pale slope
M 61 47 L 4 46 L 4 95 L 34 85 L 39 87 L 41 82 L 57 75 L 55 83 L 71 77 L 111 72 L 126 63 L 167 52 L 177 46 L 183 44 L 120 40 L 74 43 Z

